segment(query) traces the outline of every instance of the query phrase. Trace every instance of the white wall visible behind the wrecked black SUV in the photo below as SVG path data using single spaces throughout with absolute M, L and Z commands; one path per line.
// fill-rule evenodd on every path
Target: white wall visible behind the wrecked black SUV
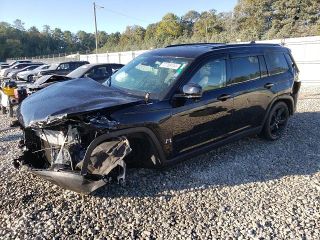
M 284 43 L 285 47 L 291 49 L 298 65 L 299 79 L 302 82 L 320 83 L 320 36 L 285 38 L 282 39 L 282 42 L 281 39 L 262 40 L 256 41 L 256 43 Z M 98 62 L 126 64 L 145 51 L 147 50 L 99 53 Z M 96 63 L 96 54 L 80 55 L 79 57 L 80 60 Z

